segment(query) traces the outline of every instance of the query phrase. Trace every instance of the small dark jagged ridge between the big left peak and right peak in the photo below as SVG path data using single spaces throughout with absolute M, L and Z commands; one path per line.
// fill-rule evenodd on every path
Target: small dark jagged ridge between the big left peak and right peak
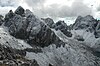
M 67 37 L 72 37 L 72 34 L 69 30 L 69 26 L 66 25 L 66 23 L 64 21 L 58 21 L 57 23 L 54 23 L 53 19 L 51 18 L 46 18 L 46 19 L 43 19 L 44 22 L 50 27 L 50 28 L 53 28 L 53 29 L 56 29 L 56 30 L 61 30 Z

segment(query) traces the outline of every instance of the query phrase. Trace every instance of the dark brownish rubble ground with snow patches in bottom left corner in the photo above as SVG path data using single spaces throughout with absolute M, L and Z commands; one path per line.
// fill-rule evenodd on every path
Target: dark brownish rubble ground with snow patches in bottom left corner
M 24 51 L 12 49 L 11 47 L 9 48 L 0 44 L 0 66 L 19 66 L 26 62 L 31 64 L 27 59 L 25 61 L 25 55 L 23 53 Z

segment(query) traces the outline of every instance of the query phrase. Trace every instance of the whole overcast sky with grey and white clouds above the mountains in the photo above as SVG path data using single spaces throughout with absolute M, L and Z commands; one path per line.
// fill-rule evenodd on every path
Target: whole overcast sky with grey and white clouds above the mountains
M 30 9 L 38 17 L 51 17 L 72 23 L 79 15 L 100 19 L 100 0 L 0 0 L 0 14 L 18 6 Z

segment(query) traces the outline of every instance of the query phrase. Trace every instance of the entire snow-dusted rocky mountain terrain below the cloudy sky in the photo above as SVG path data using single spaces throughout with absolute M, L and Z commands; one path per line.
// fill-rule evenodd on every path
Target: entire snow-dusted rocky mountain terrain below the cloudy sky
M 69 26 L 19 6 L 0 15 L 0 66 L 100 66 L 99 22 L 78 16 Z

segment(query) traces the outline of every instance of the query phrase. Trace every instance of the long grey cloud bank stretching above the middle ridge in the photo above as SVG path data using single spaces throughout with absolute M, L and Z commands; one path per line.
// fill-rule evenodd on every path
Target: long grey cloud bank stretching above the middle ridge
M 43 2 L 41 0 L 35 1 L 32 0 L 33 3 L 28 3 L 31 4 L 31 7 L 33 8 L 33 12 L 40 16 L 50 16 L 52 18 L 55 17 L 76 17 L 78 15 L 85 16 L 91 14 L 91 8 L 89 8 L 87 5 L 83 3 L 83 0 L 75 0 L 72 4 L 71 7 L 69 6 L 60 6 L 58 4 L 52 4 L 49 7 L 43 7 L 43 6 L 37 6 L 34 7 L 32 4 L 36 3 L 41 3 L 43 5 Z M 39 9 L 38 9 L 39 7 Z

